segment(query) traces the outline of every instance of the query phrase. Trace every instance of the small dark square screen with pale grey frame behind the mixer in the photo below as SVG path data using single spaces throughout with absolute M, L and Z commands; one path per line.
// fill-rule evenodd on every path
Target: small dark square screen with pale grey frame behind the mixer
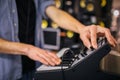
M 42 30 L 42 47 L 58 50 L 60 47 L 60 30 L 46 28 Z

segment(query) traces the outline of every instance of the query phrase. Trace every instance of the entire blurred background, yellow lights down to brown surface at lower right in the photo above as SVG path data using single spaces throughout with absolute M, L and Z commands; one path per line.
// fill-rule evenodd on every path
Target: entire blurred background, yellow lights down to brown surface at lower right
M 55 2 L 56 7 L 65 10 L 84 25 L 96 24 L 111 30 L 118 45 L 101 60 L 100 68 L 109 74 L 102 77 L 109 77 L 109 80 L 120 80 L 118 78 L 120 76 L 120 0 L 55 0 Z M 59 46 L 57 50 L 80 42 L 78 34 L 61 29 L 53 21 L 43 18 L 42 29 L 47 28 L 60 30 L 60 35 L 56 36 L 60 37 L 60 45 L 57 45 Z

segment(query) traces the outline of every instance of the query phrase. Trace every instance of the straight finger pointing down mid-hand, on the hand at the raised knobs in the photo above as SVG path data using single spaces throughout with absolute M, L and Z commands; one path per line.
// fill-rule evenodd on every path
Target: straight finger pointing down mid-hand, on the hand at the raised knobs
M 90 36 L 92 47 L 97 49 L 97 27 L 95 25 L 90 28 Z

